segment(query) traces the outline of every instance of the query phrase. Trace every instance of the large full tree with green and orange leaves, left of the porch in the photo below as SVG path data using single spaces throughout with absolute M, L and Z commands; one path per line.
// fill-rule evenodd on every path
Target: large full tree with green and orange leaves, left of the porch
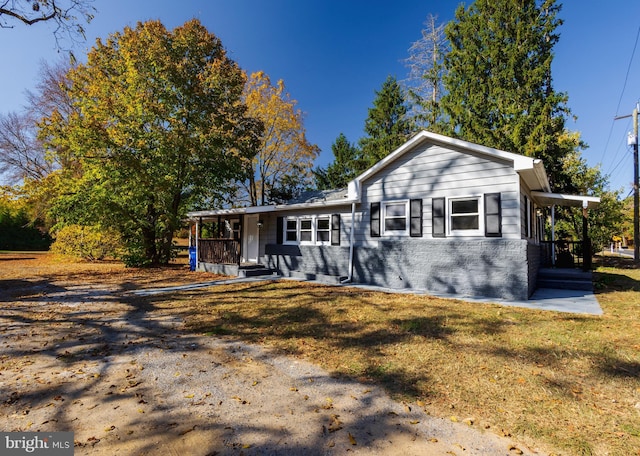
M 73 164 L 59 173 L 59 226 L 112 226 L 129 264 L 168 262 L 189 202 L 226 193 L 252 157 L 244 73 L 199 21 L 149 21 L 98 40 L 68 78 L 76 110 L 42 123 Z

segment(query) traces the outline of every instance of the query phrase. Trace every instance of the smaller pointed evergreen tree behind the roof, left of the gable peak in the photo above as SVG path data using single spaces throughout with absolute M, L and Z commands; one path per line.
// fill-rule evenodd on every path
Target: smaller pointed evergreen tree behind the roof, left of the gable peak
M 404 94 L 395 77 L 389 76 L 382 84 L 364 130 L 367 136 L 360 140 L 364 169 L 382 160 L 402 145 L 413 133 L 414 124 L 407 114 Z

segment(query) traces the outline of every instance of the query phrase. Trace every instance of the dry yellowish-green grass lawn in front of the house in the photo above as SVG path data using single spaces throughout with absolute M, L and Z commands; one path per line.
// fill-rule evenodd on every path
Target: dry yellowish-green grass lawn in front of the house
M 472 418 L 473 427 L 547 453 L 637 455 L 640 270 L 616 261 L 594 274 L 602 316 L 290 281 L 140 299 L 179 313 L 194 332 L 259 343 L 381 384 L 432 415 Z M 122 289 L 209 280 L 184 268 L 83 264 L 74 272 L 66 264 L 36 264 L 17 277 L 0 271 L 0 290 L 2 279 L 43 276 L 111 281 Z

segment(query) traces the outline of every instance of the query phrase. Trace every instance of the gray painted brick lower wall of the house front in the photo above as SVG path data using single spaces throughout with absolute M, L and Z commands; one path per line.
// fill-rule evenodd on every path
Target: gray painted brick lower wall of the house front
M 272 244 L 265 253 L 266 265 L 283 276 L 337 281 L 348 275 L 348 247 Z M 522 300 L 535 288 L 537 256 L 526 240 L 383 240 L 355 248 L 353 282 Z

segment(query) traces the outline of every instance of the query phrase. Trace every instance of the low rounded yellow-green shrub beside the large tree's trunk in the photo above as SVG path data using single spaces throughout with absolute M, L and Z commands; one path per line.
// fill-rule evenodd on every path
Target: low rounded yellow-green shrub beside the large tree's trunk
M 51 251 L 89 261 L 118 258 L 122 247 L 119 233 L 100 226 L 68 225 L 55 234 Z

